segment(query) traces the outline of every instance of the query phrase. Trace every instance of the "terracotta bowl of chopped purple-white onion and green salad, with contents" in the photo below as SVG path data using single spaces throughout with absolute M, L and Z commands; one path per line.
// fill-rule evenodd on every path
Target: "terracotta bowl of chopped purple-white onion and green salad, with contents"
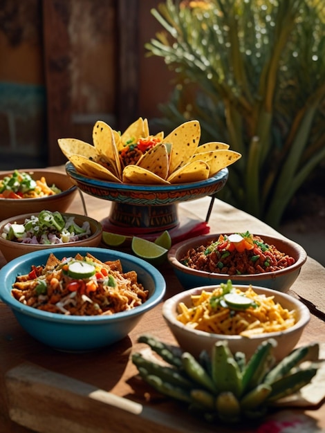
M 85 215 L 41 210 L 0 223 L 0 249 L 6 261 L 48 248 L 96 247 L 101 240 L 102 225 Z

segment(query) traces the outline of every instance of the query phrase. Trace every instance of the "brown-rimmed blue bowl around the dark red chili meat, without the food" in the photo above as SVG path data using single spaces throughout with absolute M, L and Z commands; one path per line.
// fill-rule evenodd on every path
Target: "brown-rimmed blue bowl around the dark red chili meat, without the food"
M 225 283 L 228 279 L 231 279 L 233 284 L 241 284 L 246 286 L 252 284 L 254 286 L 272 288 L 273 290 L 280 292 L 288 292 L 289 288 L 297 279 L 301 270 L 301 266 L 307 259 L 306 251 L 304 248 L 299 246 L 298 243 L 295 243 L 290 239 L 283 239 L 267 234 L 254 234 L 261 237 L 261 239 L 263 239 L 263 241 L 269 245 L 274 245 L 279 251 L 285 252 L 286 254 L 293 257 L 295 259 L 295 264 L 288 266 L 288 268 L 276 270 L 274 272 L 259 273 L 254 275 L 228 275 L 192 269 L 180 262 L 180 259 L 185 256 L 185 253 L 190 248 L 205 245 L 211 240 L 216 240 L 218 239 L 219 234 L 205 234 L 176 243 L 174 246 L 171 246 L 171 249 L 168 252 L 168 260 L 171 266 L 174 268 L 174 272 L 178 277 L 180 284 L 182 284 L 185 289 L 199 286 L 217 285 Z

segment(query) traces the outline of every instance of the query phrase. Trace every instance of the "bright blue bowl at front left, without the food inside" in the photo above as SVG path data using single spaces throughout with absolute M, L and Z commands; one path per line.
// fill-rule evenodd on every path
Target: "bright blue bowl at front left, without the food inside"
M 136 271 L 138 282 L 149 291 L 149 299 L 131 310 L 98 316 L 49 313 L 21 304 L 11 295 L 17 275 L 28 273 L 32 265 L 46 264 L 50 252 L 58 259 L 75 257 L 77 252 L 83 256 L 89 252 L 101 261 L 120 259 L 123 272 Z M 147 261 L 119 251 L 89 247 L 30 252 L 3 266 L 0 282 L 0 299 L 12 308 L 19 324 L 36 340 L 63 351 L 89 351 L 122 340 L 138 324 L 142 315 L 163 299 L 166 290 L 163 275 Z

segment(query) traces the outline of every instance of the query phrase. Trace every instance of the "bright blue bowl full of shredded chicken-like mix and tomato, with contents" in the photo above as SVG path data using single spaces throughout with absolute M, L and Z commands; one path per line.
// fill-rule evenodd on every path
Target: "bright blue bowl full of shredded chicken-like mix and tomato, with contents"
M 127 337 L 165 294 L 147 261 L 95 247 L 30 252 L 3 266 L 0 281 L 0 300 L 32 338 L 72 352 Z

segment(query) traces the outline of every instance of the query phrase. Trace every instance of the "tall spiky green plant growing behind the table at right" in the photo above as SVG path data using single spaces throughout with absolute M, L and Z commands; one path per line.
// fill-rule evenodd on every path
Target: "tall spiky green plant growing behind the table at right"
M 275 228 L 325 158 L 323 0 L 160 3 L 145 47 L 175 71 L 160 123 L 196 118 L 242 154 L 222 198 Z

